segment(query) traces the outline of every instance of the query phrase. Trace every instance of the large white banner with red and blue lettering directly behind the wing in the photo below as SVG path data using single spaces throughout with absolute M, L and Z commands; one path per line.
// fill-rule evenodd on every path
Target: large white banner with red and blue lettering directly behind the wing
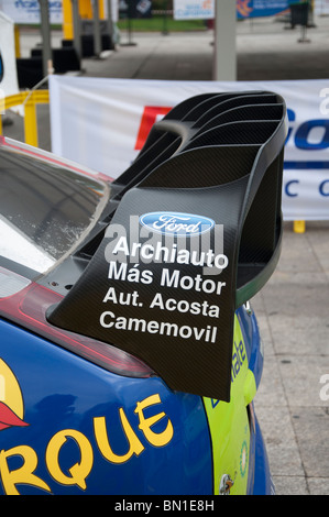
M 285 220 L 329 220 L 329 81 L 157 81 L 53 76 L 53 152 L 116 178 L 156 120 L 182 100 L 220 91 L 270 90 L 288 108 Z

